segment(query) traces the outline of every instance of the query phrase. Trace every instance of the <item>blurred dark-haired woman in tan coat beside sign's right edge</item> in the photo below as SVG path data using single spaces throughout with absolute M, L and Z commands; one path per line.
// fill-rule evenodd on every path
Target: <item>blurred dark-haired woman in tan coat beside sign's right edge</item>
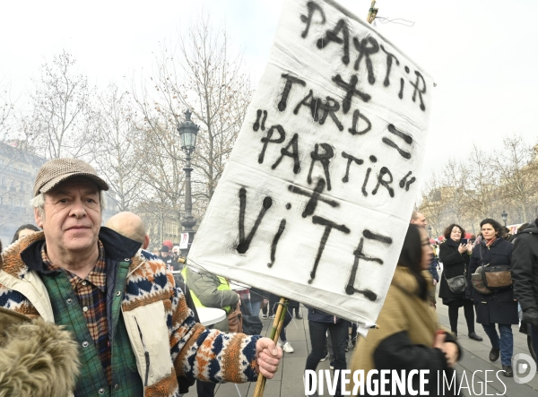
M 368 340 L 358 341 L 351 359 L 351 374 L 360 369 L 365 376 L 372 369 L 404 369 L 407 373 L 412 369 L 429 369 L 426 393 L 457 395 L 454 387 L 444 390 L 445 394 L 438 393 L 438 380 L 442 381 L 443 376 L 452 379 L 460 348 L 452 334 L 440 329 L 428 302 L 428 291 L 433 285 L 429 272 L 431 252 L 426 231 L 410 224 L 385 304 L 377 317 L 378 329 L 369 332 Z M 419 390 L 419 382 L 419 376 L 412 377 L 414 390 Z M 348 390 L 353 386 L 352 382 L 348 384 Z M 368 389 L 359 393 L 369 395 Z

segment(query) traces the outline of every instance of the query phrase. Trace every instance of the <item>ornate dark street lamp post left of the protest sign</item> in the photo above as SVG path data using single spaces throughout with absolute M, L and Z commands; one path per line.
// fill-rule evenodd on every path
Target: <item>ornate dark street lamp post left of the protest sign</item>
M 189 109 L 185 112 L 185 121 L 178 124 L 179 137 L 181 138 L 181 150 L 186 154 L 186 164 L 183 170 L 185 171 L 185 216 L 181 219 L 181 225 L 183 231 L 188 233 L 188 246 L 187 254 L 190 246 L 195 237 L 195 230 L 193 229 L 196 224 L 195 217 L 193 216 L 193 199 L 191 196 L 191 182 L 190 173 L 193 170 L 191 168 L 190 160 L 191 154 L 196 148 L 196 134 L 198 134 L 199 127 L 195 125 L 190 119 L 192 113 Z

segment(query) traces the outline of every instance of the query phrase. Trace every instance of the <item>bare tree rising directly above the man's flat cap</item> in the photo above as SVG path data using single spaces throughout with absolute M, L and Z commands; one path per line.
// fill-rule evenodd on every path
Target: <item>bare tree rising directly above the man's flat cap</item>
M 91 154 L 95 115 L 91 90 L 82 74 L 74 72 L 74 57 L 66 51 L 41 68 L 37 89 L 30 94 L 33 113 L 31 132 L 36 151 L 55 159 Z

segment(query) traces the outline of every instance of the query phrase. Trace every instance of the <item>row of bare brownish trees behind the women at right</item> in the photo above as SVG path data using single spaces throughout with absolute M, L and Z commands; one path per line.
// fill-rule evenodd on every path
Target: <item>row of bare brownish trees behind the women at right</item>
M 436 229 L 451 222 L 478 230 L 485 218 L 523 223 L 538 213 L 538 145 L 521 136 L 504 140 L 503 151 L 485 153 L 476 146 L 465 161 L 450 160 L 442 177 L 434 176 L 422 195 L 419 211 Z

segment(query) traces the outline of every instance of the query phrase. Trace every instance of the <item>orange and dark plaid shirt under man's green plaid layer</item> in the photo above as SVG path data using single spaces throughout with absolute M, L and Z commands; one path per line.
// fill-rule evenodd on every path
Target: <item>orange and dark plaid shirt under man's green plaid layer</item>
M 112 352 L 108 340 L 107 324 L 107 268 L 105 263 L 105 249 L 99 240 L 98 246 L 99 259 L 85 279 L 50 262 L 46 244 L 41 249 L 41 258 L 46 269 L 65 272 L 67 279 L 73 287 L 78 303 L 82 307 L 82 313 L 86 320 L 88 331 L 91 334 L 91 339 L 95 343 L 97 350 L 99 350 L 100 362 L 107 375 L 108 384 L 111 384 Z

